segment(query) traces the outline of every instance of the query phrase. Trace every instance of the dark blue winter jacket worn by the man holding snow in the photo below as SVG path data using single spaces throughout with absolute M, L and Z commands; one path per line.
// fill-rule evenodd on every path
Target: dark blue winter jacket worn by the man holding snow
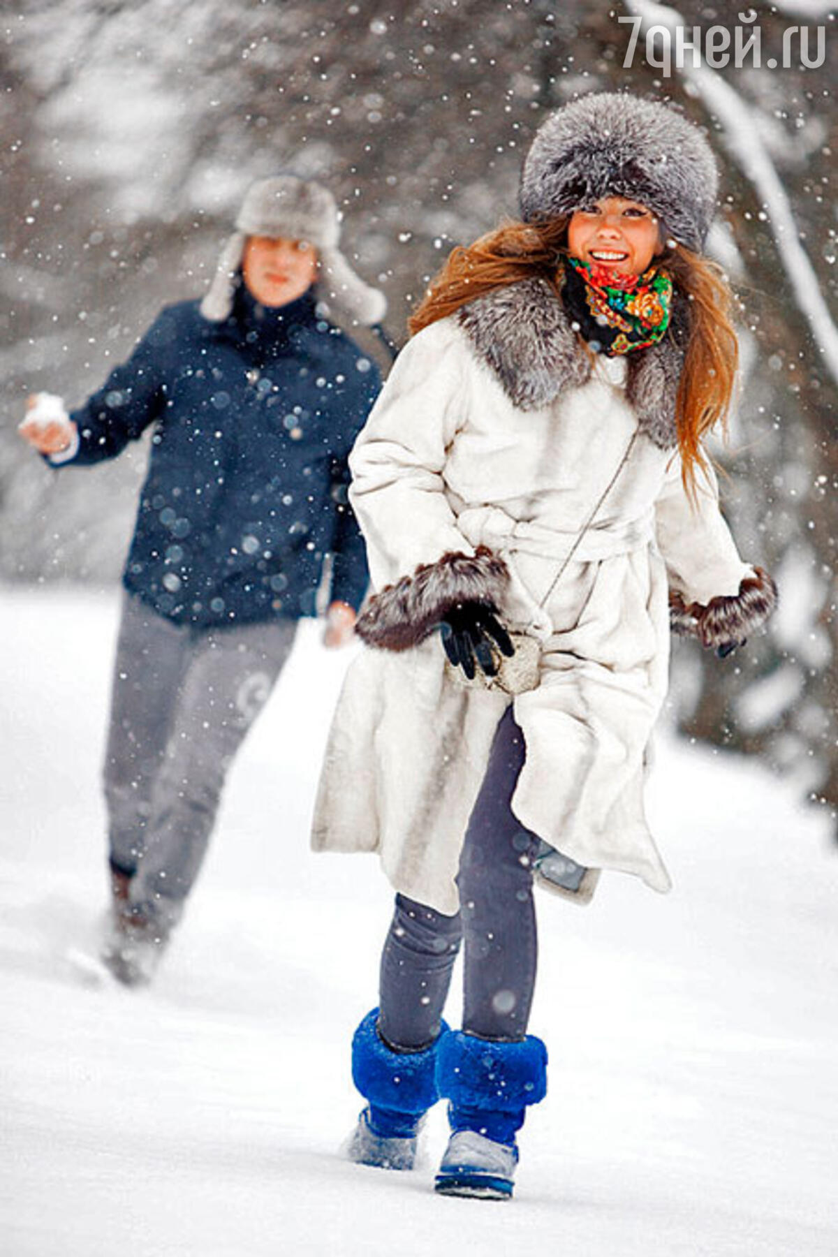
M 68 466 L 111 459 L 153 424 L 126 588 L 177 623 L 298 618 L 315 612 L 332 554 L 330 597 L 357 608 L 367 566 L 347 455 L 379 383 L 310 292 L 266 309 L 240 285 L 224 323 L 197 302 L 165 308 L 70 416 Z

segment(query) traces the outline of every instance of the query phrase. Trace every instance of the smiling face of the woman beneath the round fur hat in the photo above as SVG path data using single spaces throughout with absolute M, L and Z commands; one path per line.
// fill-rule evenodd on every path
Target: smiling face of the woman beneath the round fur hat
M 568 224 L 570 256 L 601 270 L 642 275 L 662 250 L 658 220 L 624 196 L 604 196 L 577 210 Z

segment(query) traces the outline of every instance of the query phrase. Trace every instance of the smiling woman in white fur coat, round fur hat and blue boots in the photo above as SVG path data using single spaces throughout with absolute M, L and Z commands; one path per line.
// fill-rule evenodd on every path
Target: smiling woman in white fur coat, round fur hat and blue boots
M 642 798 L 670 617 L 724 656 L 775 603 L 701 447 L 736 370 L 730 294 L 701 256 L 715 196 L 706 141 L 662 104 L 550 116 L 521 220 L 454 250 L 351 458 L 371 649 L 313 842 L 378 851 L 397 896 L 353 1040 L 349 1155 L 410 1168 L 445 1096 L 443 1193 L 509 1197 L 545 1094 L 534 881 L 578 901 L 601 870 L 670 886 Z

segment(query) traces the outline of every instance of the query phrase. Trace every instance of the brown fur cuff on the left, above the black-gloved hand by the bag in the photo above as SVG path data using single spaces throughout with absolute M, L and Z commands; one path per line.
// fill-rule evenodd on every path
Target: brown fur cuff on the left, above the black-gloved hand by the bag
M 479 546 L 475 554 L 449 551 L 436 563 L 423 563 L 412 576 L 374 593 L 358 617 L 356 632 L 379 650 L 411 650 L 459 602 L 498 607 L 508 585 L 506 564 L 487 546 Z

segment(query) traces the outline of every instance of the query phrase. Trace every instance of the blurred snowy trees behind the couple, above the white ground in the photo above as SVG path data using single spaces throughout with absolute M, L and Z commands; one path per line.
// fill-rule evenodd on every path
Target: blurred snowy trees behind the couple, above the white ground
M 631 25 L 725 26 L 726 69 L 631 68 Z M 756 752 L 838 803 L 835 485 L 838 333 L 833 152 L 838 35 L 823 0 L 743 10 L 685 0 L 255 3 L 28 0 L 4 5 L 0 137 L 0 576 L 117 581 L 144 447 L 54 476 L 15 435 L 39 388 L 78 403 L 158 307 L 205 288 L 242 190 L 291 168 L 346 211 L 361 272 L 405 336 L 411 302 L 456 243 L 515 211 L 518 171 L 545 112 L 578 92 L 670 96 L 707 127 L 722 166 L 711 249 L 744 303 L 743 393 L 725 509 L 743 553 L 778 577 L 768 637 L 724 669 L 676 645 L 688 734 Z M 817 26 L 825 58 L 817 60 Z M 759 28 L 732 65 L 735 28 Z M 690 31 L 687 31 L 690 34 Z M 675 41 L 673 41 L 675 43 Z M 660 58 L 658 58 L 660 59 Z

